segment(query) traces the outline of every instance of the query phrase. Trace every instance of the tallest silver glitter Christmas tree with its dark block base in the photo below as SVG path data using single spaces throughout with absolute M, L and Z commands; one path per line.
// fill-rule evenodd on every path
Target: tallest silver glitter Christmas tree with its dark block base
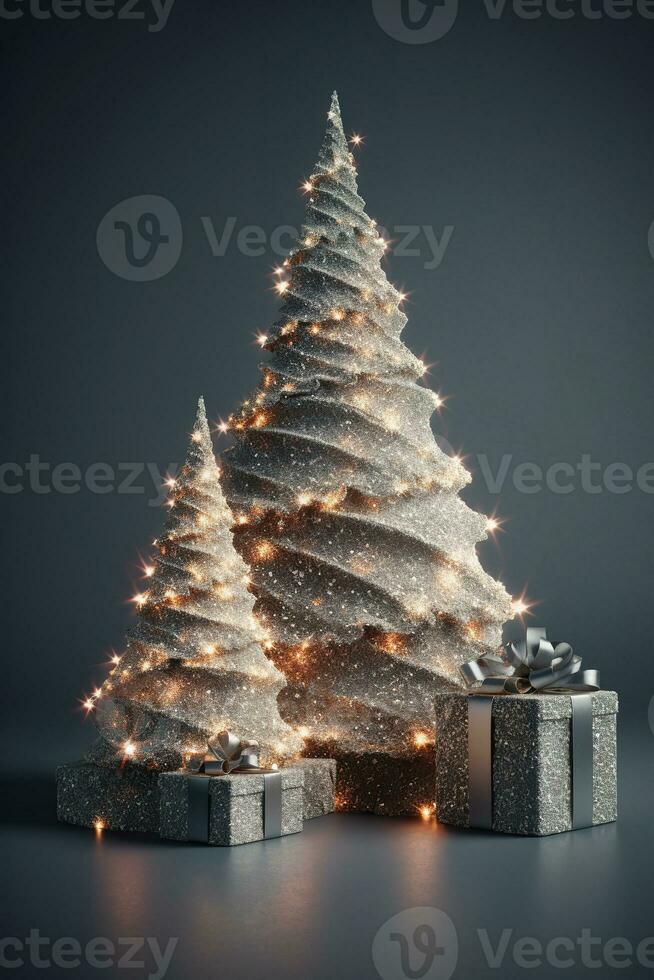
M 434 692 L 495 649 L 512 615 L 475 546 L 488 518 L 437 445 L 440 397 L 402 343 L 404 297 L 357 192 L 334 94 L 306 223 L 278 270 L 281 316 L 223 457 L 235 544 L 252 566 L 282 716 L 339 761 L 344 809 L 433 799 Z M 225 428 L 226 426 L 224 426 Z

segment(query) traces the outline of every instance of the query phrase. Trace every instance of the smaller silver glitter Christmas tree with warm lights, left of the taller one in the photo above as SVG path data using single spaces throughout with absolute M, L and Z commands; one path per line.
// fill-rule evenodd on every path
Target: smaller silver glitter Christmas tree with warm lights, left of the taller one
M 169 480 L 170 515 L 144 568 L 147 588 L 134 597 L 137 622 L 87 703 L 102 735 L 95 762 L 174 769 L 226 729 L 257 740 L 268 763 L 302 748 L 279 715 L 284 678 L 262 650 L 219 476 L 200 399 L 186 462 Z

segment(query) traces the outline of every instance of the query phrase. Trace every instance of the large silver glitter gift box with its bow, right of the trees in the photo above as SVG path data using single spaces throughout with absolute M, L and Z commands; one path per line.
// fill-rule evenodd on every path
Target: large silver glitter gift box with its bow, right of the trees
M 437 819 L 536 836 L 616 820 L 617 694 L 544 629 L 508 654 L 466 664 L 476 686 L 437 698 Z

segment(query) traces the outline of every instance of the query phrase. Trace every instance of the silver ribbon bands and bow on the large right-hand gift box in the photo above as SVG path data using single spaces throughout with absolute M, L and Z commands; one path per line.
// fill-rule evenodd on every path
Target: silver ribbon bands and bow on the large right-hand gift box
M 572 829 L 593 825 L 593 699 L 599 672 L 581 670 L 569 643 L 550 643 L 547 630 L 530 627 L 508 644 L 507 658 L 487 655 L 461 668 L 468 685 L 468 785 L 471 827 L 493 828 L 493 696 L 569 694 L 572 705 Z M 490 697 L 489 697 L 490 695 Z

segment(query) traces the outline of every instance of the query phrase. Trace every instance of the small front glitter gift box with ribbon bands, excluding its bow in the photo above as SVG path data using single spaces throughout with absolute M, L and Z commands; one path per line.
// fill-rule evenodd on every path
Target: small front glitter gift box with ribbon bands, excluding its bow
M 167 772 L 159 776 L 159 834 L 168 840 L 198 841 L 214 847 L 250 844 L 302 830 L 304 773 L 291 766 L 279 777 L 277 818 L 271 810 L 274 785 L 260 773 L 208 776 Z M 277 824 L 277 826 L 274 826 Z

